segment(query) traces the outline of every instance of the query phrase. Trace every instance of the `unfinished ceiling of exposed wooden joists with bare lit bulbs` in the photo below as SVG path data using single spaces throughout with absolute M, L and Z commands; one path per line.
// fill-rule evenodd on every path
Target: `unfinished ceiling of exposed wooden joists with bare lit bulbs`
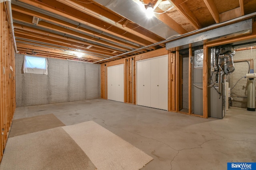
M 233 15 L 237 18 L 256 12 L 256 0 L 125 2 L 122 6 L 122 0 L 12 0 L 17 49 L 22 54 L 105 63 L 165 47 L 163 42 L 167 41 L 162 37 L 176 37 L 220 23 L 222 14 L 240 10 L 241 15 Z M 146 20 L 145 8 L 138 11 L 136 3 L 144 7 L 152 3 L 153 20 Z M 122 10 L 111 8 L 115 4 Z M 37 24 L 32 23 L 33 18 Z M 172 32 L 172 36 L 162 32 Z M 82 58 L 78 58 L 78 52 L 84 54 Z

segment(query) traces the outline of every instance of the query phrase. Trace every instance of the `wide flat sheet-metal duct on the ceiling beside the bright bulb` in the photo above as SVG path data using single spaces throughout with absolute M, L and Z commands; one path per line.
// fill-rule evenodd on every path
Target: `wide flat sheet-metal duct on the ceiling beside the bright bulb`
M 133 0 L 94 0 L 120 16 L 148 29 L 164 39 L 180 35 L 155 17 L 147 18 L 146 13 Z

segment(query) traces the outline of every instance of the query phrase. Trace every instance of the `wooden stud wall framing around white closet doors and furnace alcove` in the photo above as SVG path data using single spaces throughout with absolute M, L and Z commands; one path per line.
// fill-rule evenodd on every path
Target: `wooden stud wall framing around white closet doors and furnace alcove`
M 102 64 L 102 67 L 112 66 L 117 64 L 125 64 L 125 102 L 136 104 L 136 61 L 149 59 L 152 57 L 158 57 L 161 55 L 168 54 L 168 111 L 174 111 L 179 113 L 184 113 L 188 115 L 195 115 L 199 117 L 208 118 L 208 49 L 210 47 L 224 45 L 228 43 L 234 43 L 238 41 L 244 41 L 248 39 L 256 38 L 256 22 L 252 23 L 252 34 L 244 35 L 240 37 L 221 37 L 219 39 L 215 39 L 212 41 L 208 41 L 204 43 L 204 65 L 203 65 L 203 115 L 196 115 L 192 113 L 192 64 L 190 63 L 190 59 L 192 56 L 192 45 L 190 45 L 188 49 L 188 113 L 180 112 L 180 105 L 182 101 L 182 96 L 180 95 L 182 92 L 182 64 L 180 60 L 180 54 L 178 49 L 173 48 L 172 51 L 168 51 L 166 49 L 158 49 L 154 51 L 150 51 L 148 53 L 135 55 L 133 57 L 129 57 L 126 59 L 120 59 L 117 61 L 112 61 L 109 63 Z M 104 82 L 106 80 L 106 68 L 102 69 L 102 82 L 103 90 L 102 94 L 106 94 L 107 84 Z M 102 95 L 102 98 L 107 99 L 107 95 Z

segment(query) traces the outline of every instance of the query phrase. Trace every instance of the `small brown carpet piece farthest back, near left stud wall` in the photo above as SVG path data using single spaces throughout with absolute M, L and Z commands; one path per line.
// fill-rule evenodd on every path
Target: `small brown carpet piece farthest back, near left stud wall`
M 9 137 L 65 126 L 54 114 L 16 119 L 12 122 Z

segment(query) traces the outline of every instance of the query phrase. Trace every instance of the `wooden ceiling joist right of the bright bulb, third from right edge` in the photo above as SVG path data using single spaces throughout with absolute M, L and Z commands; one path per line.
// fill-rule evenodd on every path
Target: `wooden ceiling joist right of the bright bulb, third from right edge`
M 200 21 L 194 16 L 183 0 L 168 0 L 196 29 L 202 28 Z M 185 1 L 186 2 L 186 1 Z

